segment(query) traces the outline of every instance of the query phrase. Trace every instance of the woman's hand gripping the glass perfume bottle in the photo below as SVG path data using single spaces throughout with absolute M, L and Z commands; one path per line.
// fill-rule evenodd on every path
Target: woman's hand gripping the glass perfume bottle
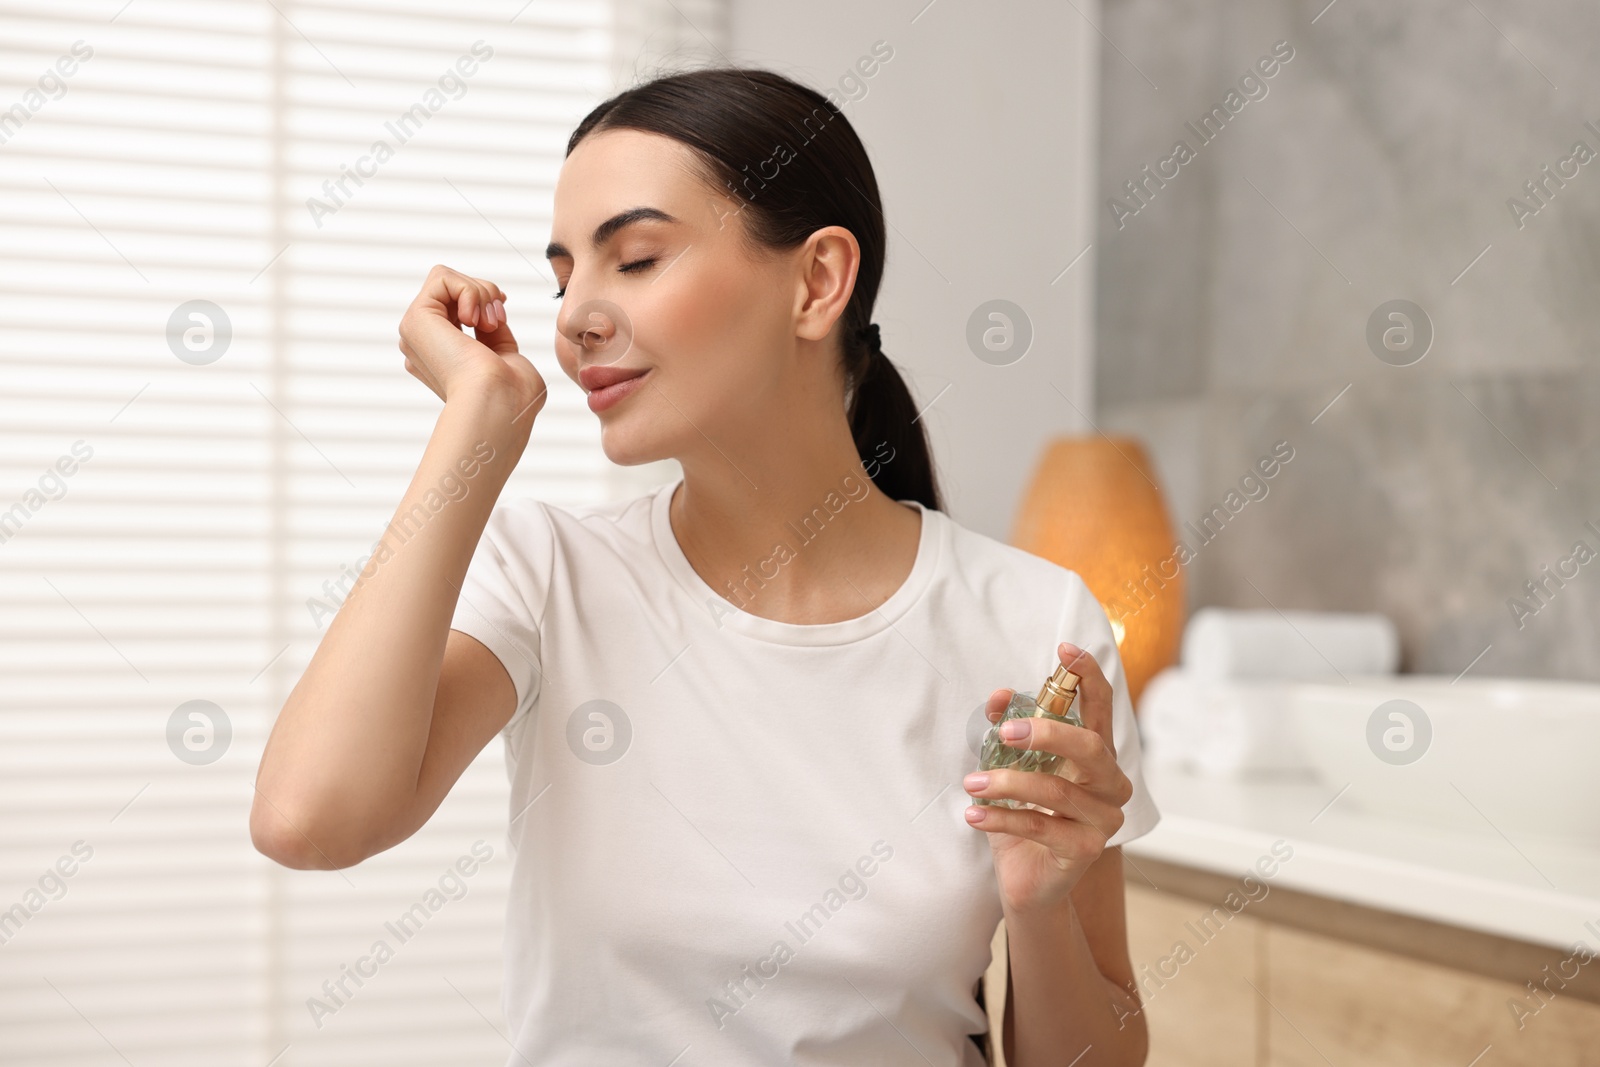
M 997 768 L 968 774 L 963 784 L 973 797 L 1005 797 L 1050 808 L 973 805 L 966 821 L 989 833 L 1000 899 L 1008 913 L 1048 910 L 1066 902 L 1090 864 L 1106 851 L 1106 841 L 1122 829 L 1122 806 L 1133 797 L 1133 782 L 1117 766 L 1110 729 L 1110 683 L 1094 657 L 1075 645 L 1056 648 L 1061 662 L 1078 675 L 1078 715 L 1083 726 L 1050 718 L 1016 718 L 1006 726 L 1027 733 L 1006 737 L 1018 749 L 1042 749 L 1064 757 L 1056 774 Z M 1011 689 L 989 694 L 989 721 L 998 721 Z M 981 779 L 987 776 L 987 784 Z

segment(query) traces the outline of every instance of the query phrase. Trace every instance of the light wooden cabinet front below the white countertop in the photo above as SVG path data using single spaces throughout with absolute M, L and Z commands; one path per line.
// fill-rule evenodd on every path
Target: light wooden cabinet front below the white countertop
M 1147 1067 L 1600 1067 L 1600 1005 L 1554 982 L 1518 1025 L 1509 1005 L 1539 1005 L 1518 982 L 1126 893 Z M 1552 949 L 1552 968 L 1563 957 Z

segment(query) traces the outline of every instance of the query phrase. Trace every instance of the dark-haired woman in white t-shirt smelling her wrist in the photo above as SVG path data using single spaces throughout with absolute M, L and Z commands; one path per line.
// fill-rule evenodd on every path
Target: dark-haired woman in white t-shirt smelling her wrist
M 498 501 L 544 382 L 506 293 L 435 267 L 400 349 L 443 413 L 277 720 L 256 846 L 360 862 L 499 734 L 512 1062 L 981 1064 L 1003 917 L 1008 1062 L 1142 1064 L 1118 846 L 1157 813 L 1110 627 L 939 510 L 848 120 L 771 72 L 658 78 L 573 133 L 552 229 L 606 456 L 683 477 Z M 995 686 L 1058 662 L 1086 728 L 1011 744 L 1062 773 L 968 776 Z

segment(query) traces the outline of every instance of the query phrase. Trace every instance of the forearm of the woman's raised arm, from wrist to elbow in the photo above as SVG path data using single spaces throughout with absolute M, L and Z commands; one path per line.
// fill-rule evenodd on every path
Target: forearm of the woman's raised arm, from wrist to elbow
M 488 392 L 445 405 L 394 520 L 278 713 L 251 827 L 307 840 L 307 865 L 363 859 L 416 795 L 458 590 L 526 443 L 531 419 L 514 424 L 515 414 Z

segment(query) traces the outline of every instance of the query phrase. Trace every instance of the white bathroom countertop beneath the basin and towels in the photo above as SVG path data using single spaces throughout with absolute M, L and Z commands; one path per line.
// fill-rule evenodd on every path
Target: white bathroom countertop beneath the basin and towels
M 1162 821 L 1123 846 L 1130 867 L 1149 856 L 1237 880 L 1285 840 L 1293 857 L 1270 878 L 1256 875 L 1269 886 L 1558 949 L 1600 947 L 1600 848 L 1368 813 L 1314 777 L 1234 781 L 1168 766 L 1144 776 Z

